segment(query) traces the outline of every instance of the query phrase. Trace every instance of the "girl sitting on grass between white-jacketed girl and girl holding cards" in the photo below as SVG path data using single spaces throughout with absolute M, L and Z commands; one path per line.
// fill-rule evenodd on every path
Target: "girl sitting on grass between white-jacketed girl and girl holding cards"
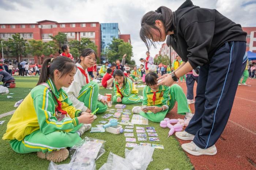
M 115 78 L 114 93 L 116 93 L 113 96 L 114 103 L 133 104 L 142 102 L 138 97 L 139 90 L 135 88 L 130 78 L 124 76 L 121 70 L 115 70 L 113 77 Z

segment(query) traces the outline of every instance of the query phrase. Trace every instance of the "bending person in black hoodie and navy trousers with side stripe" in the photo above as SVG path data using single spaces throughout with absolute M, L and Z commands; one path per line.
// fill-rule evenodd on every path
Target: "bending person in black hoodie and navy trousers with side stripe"
M 141 20 L 140 38 L 149 49 L 170 36 L 170 44 L 184 61 L 174 72 L 159 77 L 170 86 L 200 66 L 195 115 L 176 136 L 193 140 L 182 144 L 192 155 L 215 155 L 233 105 L 237 82 L 246 66 L 246 32 L 216 9 L 200 8 L 186 0 L 176 11 L 159 7 Z

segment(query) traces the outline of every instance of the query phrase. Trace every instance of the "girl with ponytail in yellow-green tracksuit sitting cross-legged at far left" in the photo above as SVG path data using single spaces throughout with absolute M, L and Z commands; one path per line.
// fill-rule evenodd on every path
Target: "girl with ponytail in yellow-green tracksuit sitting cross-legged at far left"
M 46 58 L 37 86 L 22 101 L 7 124 L 3 140 L 10 140 L 15 152 L 37 152 L 39 158 L 61 162 L 68 157 L 66 147 L 93 122 L 93 115 L 76 109 L 62 87 L 74 80 L 75 63 L 67 57 Z M 90 128 L 90 127 L 89 127 Z

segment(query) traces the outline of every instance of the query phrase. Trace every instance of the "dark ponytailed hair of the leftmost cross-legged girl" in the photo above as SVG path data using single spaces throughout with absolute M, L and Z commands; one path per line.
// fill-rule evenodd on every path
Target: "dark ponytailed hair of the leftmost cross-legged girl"
M 49 65 L 50 63 L 50 65 Z M 41 74 L 37 85 L 46 82 L 49 78 L 53 79 L 54 70 L 59 70 L 60 77 L 70 73 L 76 67 L 74 61 L 68 57 L 59 56 L 56 58 L 46 58 L 42 65 Z

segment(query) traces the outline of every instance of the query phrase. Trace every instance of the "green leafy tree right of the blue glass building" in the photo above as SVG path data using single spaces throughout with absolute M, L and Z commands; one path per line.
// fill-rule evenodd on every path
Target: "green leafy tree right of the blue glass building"
M 125 57 L 126 63 L 131 64 L 132 45 L 122 39 L 113 38 L 112 43 L 106 48 L 105 54 L 109 62 L 115 62 L 116 59 L 121 61 L 123 55 L 127 54 L 127 57 Z

